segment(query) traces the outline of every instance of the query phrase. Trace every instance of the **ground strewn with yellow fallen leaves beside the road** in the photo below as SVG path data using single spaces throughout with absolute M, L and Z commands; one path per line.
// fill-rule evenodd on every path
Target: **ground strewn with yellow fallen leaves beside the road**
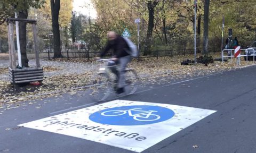
M 218 57 L 213 55 L 214 58 Z M 202 75 L 209 75 L 220 71 L 228 71 L 237 69 L 236 61 L 222 62 L 214 61 L 214 63 L 205 66 L 197 63 L 191 65 L 181 65 L 183 60 L 193 60 L 194 56 L 175 56 L 175 57 L 159 57 L 158 60 L 154 57 L 141 58 L 140 61 L 133 60 L 129 67 L 133 68 L 139 74 L 139 77 L 144 83 L 164 83 L 167 80 L 182 80 Z M 65 63 L 66 60 L 59 60 L 57 62 Z M 84 87 L 91 83 L 93 75 L 97 72 L 97 67 L 100 63 L 96 61 L 85 62 L 84 60 L 69 60 L 69 66 L 55 67 L 54 65 L 44 65 L 44 72 L 57 72 L 44 77 L 41 86 L 24 86 L 14 87 L 9 81 L 0 79 L 0 113 L 5 109 L 18 107 L 20 101 L 42 99 L 44 97 L 55 96 L 63 92 L 68 92 L 70 89 L 76 87 Z M 243 61 L 241 65 L 252 65 L 253 61 Z M 82 65 L 82 66 L 81 66 Z M 84 66 L 89 65 L 89 66 Z M 92 66 L 94 65 L 94 66 Z M 68 69 L 65 69 L 65 67 Z M 71 68 L 70 68 L 71 67 Z M 84 68 L 81 68 L 84 67 Z M 91 67 L 91 69 L 90 69 Z M 59 71 L 63 69 L 63 71 Z M 75 73 L 70 69 L 82 69 L 83 73 Z M 84 69 L 84 70 L 83 70 Z M 70 73 L 62 73 L 70 71 Z M 0 68 L 0 74 L 8 75 L 7 67 Z M 86 90 L 86 88 L 84 89 Z M 74 94 L 76 90 L 72 90 Z

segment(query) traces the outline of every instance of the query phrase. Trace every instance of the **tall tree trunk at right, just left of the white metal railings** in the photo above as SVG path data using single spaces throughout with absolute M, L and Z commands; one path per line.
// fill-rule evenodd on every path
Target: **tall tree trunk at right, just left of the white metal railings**
M 204 40 L 203 40 L 203 54 L 207 54 L 207 53 L 208 53 L 209 6 L 210 6 L 210 0 L 205 0 L 205 1 L 204 1 Z

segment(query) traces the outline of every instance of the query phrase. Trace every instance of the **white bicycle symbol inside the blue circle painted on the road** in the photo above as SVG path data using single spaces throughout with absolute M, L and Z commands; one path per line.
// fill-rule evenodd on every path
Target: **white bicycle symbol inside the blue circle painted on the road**
M 133 109 L 128 109 L 128 110 L 111 110 L 111 111 L 106 111 L 102 112 L 101 115 L 103 116 L 119 116 L 119 115 L 124 115 L 128 112 L 129 116 L 133 116 L 134 120 L 137 121 L 156 121 L 159 118 L 161 118 L 159 115 L 152 114 L 153 112 L 157 111 L 142 111 L 142 108 L 133 108 Z M 152 119 L 150 119 L 150 118 Z

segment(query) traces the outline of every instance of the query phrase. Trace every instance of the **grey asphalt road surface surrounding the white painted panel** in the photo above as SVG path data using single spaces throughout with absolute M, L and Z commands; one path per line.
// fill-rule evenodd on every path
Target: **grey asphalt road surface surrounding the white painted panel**
M 255 74 L 256 66 L 250 66 L 161 86 L 148 85 L 140 88 L 137 94 L 117 99 L 217 111 L 142 152 L 256 152 Z M 18 126 L 97 105 L 82 92 L 37 100 L 37 103 L 31 105 L 25 101 L 22 104 L 24 106 L 3 112 L 0 115 L 0 152 L 133 152 L 68 135 Z

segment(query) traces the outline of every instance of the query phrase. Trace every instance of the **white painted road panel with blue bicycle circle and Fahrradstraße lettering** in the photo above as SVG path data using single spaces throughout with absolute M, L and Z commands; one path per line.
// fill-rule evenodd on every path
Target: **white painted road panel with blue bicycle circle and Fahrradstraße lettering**
M 141 152 L 214 112 L 178 105 L 114 100 L 19 126 Z

